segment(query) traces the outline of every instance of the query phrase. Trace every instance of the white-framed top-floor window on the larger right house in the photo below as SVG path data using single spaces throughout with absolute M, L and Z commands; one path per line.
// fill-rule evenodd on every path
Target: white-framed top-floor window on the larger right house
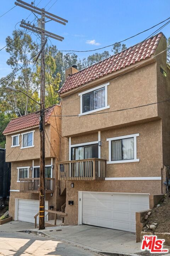
M 107 105 L 107 86 L 108 85 L 109 83 L 103 84 L 79 93 L 79 96 L 80 96 L 79 116 L 104 110 L 110 107 Z

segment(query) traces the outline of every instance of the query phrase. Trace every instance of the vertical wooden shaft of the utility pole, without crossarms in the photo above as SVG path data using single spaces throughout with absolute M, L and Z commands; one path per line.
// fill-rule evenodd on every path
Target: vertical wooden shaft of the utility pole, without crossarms
M 45 30 L 45 13 L 41 12 L 41 28 Z M 45 33 L 41 32 L 41 47 L 45 42 Z M 40 75 L 40 210 L 39 230 L 45 229 L 45 49 L 41 52 Z

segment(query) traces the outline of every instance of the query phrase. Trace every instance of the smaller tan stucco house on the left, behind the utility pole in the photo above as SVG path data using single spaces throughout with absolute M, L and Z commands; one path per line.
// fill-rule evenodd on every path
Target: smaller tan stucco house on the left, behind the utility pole
M 60 158 L 60 115 L 58 105 L 45 110 L 45 208 L 61 210 L 57 161 Z M 14 220 L 34 223 L 39 212 L 40 135 L 39 112 L 12 119 L 6 129 L 6 162 L 11 162 L 9 215 Z M 45 213 L 45 220 L 54 214 Z

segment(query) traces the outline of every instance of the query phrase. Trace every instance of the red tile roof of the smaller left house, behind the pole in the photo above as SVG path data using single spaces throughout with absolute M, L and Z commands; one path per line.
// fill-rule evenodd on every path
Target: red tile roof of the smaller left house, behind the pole
M 53 107 L 55 106 L 56 105 L 46 108 L 45 110 L 46 123 L 49 120 L 50 115 L 52 114 Z M 15 132 L 17 130 L 22 130 L 32 126 L 37 126 L 39 125 L 39 117 L 40 117 L 40 113 L 33 112 L 22 117 L 11 119 L 11 121 L 8 123 L 7 127 L 5 128 L 3 134 Z

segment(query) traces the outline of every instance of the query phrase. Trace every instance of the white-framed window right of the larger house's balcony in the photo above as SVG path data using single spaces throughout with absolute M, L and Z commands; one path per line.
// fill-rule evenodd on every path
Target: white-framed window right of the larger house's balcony
M 136 137 L 139 133 L 107 138 L 109 142 L 109 161 L 107 164 L 139 162 L 137 159 Z

